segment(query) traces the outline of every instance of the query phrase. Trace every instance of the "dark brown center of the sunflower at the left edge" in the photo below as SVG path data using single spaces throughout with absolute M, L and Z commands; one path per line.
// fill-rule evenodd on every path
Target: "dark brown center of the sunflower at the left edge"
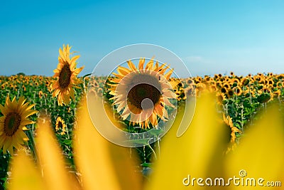
M 12 137 L 21 125 L 21 115 L 17 112 L 9 112 L 4 120 L 4 132 L 7 136 Z

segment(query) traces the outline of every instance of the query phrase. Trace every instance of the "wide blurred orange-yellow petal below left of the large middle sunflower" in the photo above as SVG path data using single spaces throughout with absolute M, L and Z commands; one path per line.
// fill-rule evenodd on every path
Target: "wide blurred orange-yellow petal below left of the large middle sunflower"
M 86 99 L 82 99 L 74 144 L 75 164 L 82 173 L 82 186 L 89 190 L 141 189 L 142 176 L 135 172 L 134 166 L 138 164 L 129 157 L 129 149 L 107 141 L 97 132 L 89 117 Z M 95 101 L 89 105 L 94 106 L 91 109 L 105 114 L 104 107 L 99 107 L 102 103 Z

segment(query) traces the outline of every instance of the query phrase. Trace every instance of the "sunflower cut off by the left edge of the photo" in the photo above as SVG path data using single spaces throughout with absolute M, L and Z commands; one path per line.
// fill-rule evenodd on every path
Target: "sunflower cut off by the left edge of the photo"
M 13 154 L 13 147 L 18 149 L 24 141 L 28 140 L 24 130 L 28 130 L 26 125 L 34 122 L 28 120 L 28 116 L 38 111 L 31 110 L 34 105 L 29 105 L 24 97 L 20 97 L 16 102 L 16 97 L 10 100 L 6 97 L 5 105 L 0 105 L 0 110 L 4 116 L 0 117 L 0 148 L 3 152 L 8 149 Z

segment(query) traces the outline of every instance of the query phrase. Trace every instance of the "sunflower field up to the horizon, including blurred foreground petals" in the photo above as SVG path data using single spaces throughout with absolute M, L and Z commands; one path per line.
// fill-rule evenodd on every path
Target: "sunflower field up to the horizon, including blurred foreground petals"
M 239 76 L 231 72 L 173 78 L 166 65 L 141 59 L 138 65 L 129 61 L 129 68 L 118 68 L 109 77 L 79 77 L 83 69 L 77 68 L 80 56 L 73 56 L 70 48 L 60 48 L 53 77 L 0 76 L 1 189 L 183 189 L 185 169 L 197 177 L 230 176 L 241 169 L 237 166 L 247 166 L 251 175 L 267 176 L 266 171 L 275 180 L 283 179 L 284 74 Z M 143 70 L 146 77 L 137 79 L 137 70 Z M 124 75 L 131 72 L 131 83 L 162 75 L 165 81 L 158 85 L 164 101 L 157 90 L 144 84 L 129 91 L 128 101 L 116 96 L 121 93 L 119 84 L 130 83 Z M 167 84 L 173 89 L 167 90 Z M 188 98 L 197 98 L 196 114 L 190 130 L 177 142 L 170 135 L 175 133 L 182 110 L 178 110 L 173 129 L 158 142 L 119 147 L 92 126 L 85 100 L 88 89 L 105 98 L 127 132 L 155 128 Z M 129 110 L 138 115 L 145 97 L 154 103 L 154 111 L 150 117 L 136 118 Z M 171 98 L 177 100 L 176 105 Z M 133 120 L 126 120 L 129 117 Z M 157 137 L 159 134 L 157 130 Z M 270 151 L 266 152 L 270 156 L 263 151 Z M 250 166 L 255 169 L 249 170 Z

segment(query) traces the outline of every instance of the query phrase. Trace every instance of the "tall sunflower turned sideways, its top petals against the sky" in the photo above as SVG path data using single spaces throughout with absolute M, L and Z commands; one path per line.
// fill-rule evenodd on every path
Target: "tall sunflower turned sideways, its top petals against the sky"
M 57 80 L 53 83 L 52 91 L 53 97 L 58 97 L 58 105 L 69 103 L 70 97 L 75 100 L 75 92 L 72 87 L 81 83 L 77 75 L 84 67 L 76 68 L 76 60 L 80 56 L 70 58 L 70 54 L 72 54 L 70 53 L 70 49 L 69 45 L 63 45 L 63 50 L 59 49 L 58 68 L 53 70 L 55 73 L 53 77 L 57 78 Z

